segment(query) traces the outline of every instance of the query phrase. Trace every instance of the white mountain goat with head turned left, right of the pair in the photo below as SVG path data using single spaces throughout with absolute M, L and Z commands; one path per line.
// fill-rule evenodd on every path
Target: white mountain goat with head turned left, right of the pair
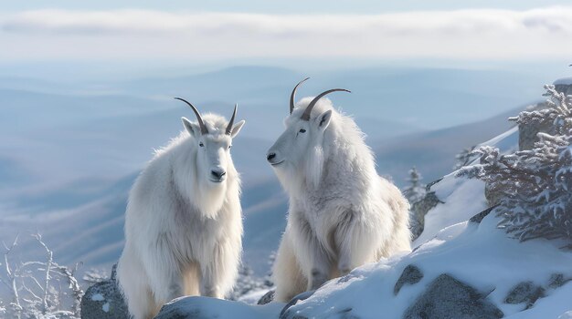
M 281 302 L 357 266 L 410 250 L 408 201 L 377 175 L 355 121 L 322 99 L 349 91 L 327 90 L 295 108 L 302 82 L 292 90 L 286 130 L 267 154 L 290 196 L 273 269 Z

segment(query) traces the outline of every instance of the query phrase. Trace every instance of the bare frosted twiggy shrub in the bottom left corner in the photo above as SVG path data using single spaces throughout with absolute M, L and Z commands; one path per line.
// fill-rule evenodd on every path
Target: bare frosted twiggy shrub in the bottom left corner
M 39 234 L 32 235 L 46 252 L 43 262 L 15 262 L 15 249 L 18 237 L 10 245 L 4 245 L 4 261 L 0 273 L 2 289 L 0 296 L 0 314 L 7 318 L 79 318 L 79 303 L 83 291 L 74 277 L 77 266 L 70 269 L 59 265 L 53 259 Z

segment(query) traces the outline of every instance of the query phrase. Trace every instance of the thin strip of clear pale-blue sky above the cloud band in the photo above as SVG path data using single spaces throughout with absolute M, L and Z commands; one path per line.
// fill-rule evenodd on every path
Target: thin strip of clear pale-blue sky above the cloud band
M 110 10 L 139 8 L 166 11 L 216 11 L 265 14 L 381 14 L 396 11 L 498 8 L 524 10 L 543 6 L 568 5 L 569 0 L 26 0 L 5 1 L 3 11 L 33 9 Z

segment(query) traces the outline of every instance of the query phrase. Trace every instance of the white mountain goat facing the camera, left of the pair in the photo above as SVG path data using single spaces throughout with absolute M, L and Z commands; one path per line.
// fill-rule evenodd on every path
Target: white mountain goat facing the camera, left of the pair
M 230 158 L 245 121 L 214 114 L 156 151 L 135 181 L 125 213 L 118 279 L 134 319 L 153 318 L 182 295 L 223 298 L 238 274 L 242 250 L 240 180 Z

